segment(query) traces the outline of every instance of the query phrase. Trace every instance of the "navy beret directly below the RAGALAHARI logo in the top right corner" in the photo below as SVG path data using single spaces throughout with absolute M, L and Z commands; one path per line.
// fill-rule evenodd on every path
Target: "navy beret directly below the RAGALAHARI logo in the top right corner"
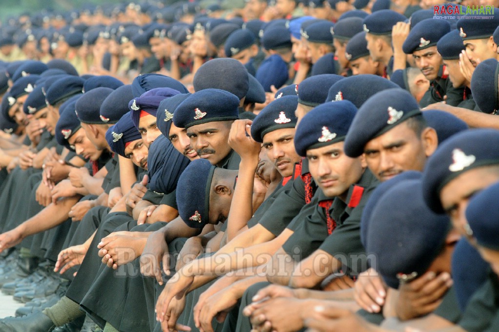
M 457 28 L 463 40 L 484 39 L 494 34 L 499 25 L 499 8 L 494 8 L 494 13 L 490 19 L 461 18 L 458 20 Z

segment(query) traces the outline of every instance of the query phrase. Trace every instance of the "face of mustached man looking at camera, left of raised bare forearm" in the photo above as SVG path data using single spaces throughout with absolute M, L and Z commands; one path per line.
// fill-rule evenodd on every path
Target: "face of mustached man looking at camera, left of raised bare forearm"
M 231 121 L 215 121 L 198 124 L 187 129 L 191 146 L 201 158 L 217 165 L 227 157 L 232 148 L 227 144 Z

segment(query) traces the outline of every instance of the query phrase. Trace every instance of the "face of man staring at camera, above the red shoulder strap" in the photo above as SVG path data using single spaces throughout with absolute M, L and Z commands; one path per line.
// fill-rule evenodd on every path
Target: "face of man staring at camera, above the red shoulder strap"
M 343 143 L 307 150 L 307 159 L 310 174 L 324 194 L 345 201 L 348 188 L 360 179 L 363 168 L 360 157 L 350 158 L 343 152 Z

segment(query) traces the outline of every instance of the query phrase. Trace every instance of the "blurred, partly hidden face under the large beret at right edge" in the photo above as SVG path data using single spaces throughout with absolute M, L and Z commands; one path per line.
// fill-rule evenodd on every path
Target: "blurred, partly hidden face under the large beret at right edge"
M 496 166 L 497 167 L 497 166 Z M 478 167 L 452 179 L 440 191 L 440 201 L 454 228 L 467 235 L 466 207 L 473 195 L 499 181 L 499 173 L 491 167 Z

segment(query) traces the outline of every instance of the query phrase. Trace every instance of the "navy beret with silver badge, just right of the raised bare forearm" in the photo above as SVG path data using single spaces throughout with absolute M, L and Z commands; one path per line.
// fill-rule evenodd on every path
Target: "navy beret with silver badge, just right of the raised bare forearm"
M 265 106 L 251 124 L 251 137 L 262 143 L 263 136 L 274 130 L 294 128 L 298 120 L 294 115 L 298 105 L 297 96 L 283 96 Z

